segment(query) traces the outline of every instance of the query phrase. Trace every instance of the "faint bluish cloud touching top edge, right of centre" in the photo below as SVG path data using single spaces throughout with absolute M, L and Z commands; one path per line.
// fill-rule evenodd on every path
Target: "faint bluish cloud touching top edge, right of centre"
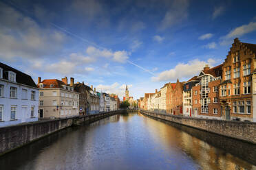
M 166 12 L 164 19 L 160 23 L 160 29 L 167 29 L 186 19 L 188 16 L 187 8 L 189 7 L 188 0 L 174 0 L 169 10 Z

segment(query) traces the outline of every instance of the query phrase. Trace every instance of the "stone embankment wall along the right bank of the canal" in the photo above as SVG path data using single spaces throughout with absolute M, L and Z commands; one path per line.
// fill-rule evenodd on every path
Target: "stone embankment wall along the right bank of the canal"
M 145 110 L 140 110 L 140 113 L 156 119 L 195 127 L 200 130 L 206 130 L 207 132 L 213 132 L 215 134 L 256 144 L 256 123 L 253 122 L 200 119 L 195 117 L 175 116 L 171 114 L 158 114 Z

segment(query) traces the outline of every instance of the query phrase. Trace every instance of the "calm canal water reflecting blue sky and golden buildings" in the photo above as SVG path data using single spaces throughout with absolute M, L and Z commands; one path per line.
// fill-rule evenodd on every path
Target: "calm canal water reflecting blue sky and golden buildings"
M 193 133 L 200 132 L 139 113 L 114 115 L 3 155 L 0 169 L 256 169 L 209 139 L 202 141 L 207 134 Z

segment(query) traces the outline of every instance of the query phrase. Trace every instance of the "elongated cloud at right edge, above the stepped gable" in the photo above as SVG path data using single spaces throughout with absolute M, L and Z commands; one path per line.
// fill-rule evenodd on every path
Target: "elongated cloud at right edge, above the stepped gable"
M 255 30 L 256 30 L 256 22 L 250 22 L 247 25 L 236 27 L 231 32 L 229 32 L 225 37 L 235 38 L 237 36 L 243 36 L 244 34 L 254 32 Z

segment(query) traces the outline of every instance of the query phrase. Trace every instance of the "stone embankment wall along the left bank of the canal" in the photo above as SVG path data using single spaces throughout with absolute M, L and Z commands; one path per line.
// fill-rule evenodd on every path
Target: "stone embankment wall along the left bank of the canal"
M 79 117 L 70 117 L 65 119 L 51 119 L 36 121 L 33 123 L 25 123 L 9 127 L 0 128 L 0 155 L 5 154 L 12 149 L 26 145 L 43 136 L 47 136 L 58 130 L 63 130 L 71 125 L 79 125 L 81 123 L 90 123 L 98 121 L 114 114 L 127 112 L 127 110 L 116 110 L 113 112 L 103 112 L 98 114 L 89 114 Z

